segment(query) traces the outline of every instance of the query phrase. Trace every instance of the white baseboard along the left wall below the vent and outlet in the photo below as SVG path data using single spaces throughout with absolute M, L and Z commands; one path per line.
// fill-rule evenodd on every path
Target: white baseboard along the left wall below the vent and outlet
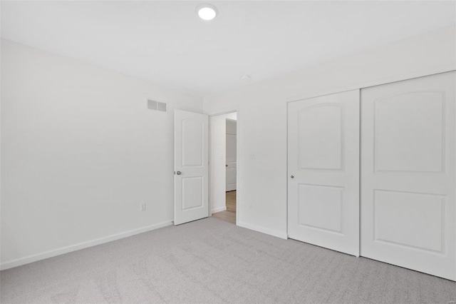
M 145 233 L 150 230 L 155 230 L 155 229 L 170 226 L 170 225 L 172 225 L 172 220 L 166 221 L 163 223 L 157 223 L 157 224 L 151 225 L 151 226 L 128 230 L 128 231 L 125 231 L 122 233 L 108 235 L 108 236 L 105 236 L 104 238 L 97 238 L 95 240 L 89 240 L 88 242 L 78 243 L 75 245 L 69 245 L 69 246 L 57 248 L 54 250 L 48 250 L 43 253 L 28 255 L 24 258 L 17 258 L 15 260 L 9 260 L 9 261 L 6 261 L 6 262 L 0 264 L 0 270 L 5 270 L 5 269 L 14 268 L 14 267 L 28 264 L 28 263 L 33 263 L 33 262 L 36 262 L 37 260 L 44 260 L 45 258 L 52 258 L 53 256 L 56 256 L 56 255 L 71 253 L 72 251 L 81 250 L 81 249 L 92 247 L 95 245 L 112 242 L 113 240 L 119 240 L 120 238 L 127 238 L 128 236 Z

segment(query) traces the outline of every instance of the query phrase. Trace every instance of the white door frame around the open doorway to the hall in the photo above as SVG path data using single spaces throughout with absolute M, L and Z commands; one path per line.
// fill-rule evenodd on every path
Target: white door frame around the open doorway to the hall
M 227 110 L 224 112 L 216 112 L 216 113 L 210 113 L 209 115 L 209 217 L 212 216 L 212 201 L 211 201 L 211 181 L 212 181 L 212 176 L 211 176 L 211 168 L 212 168 L 212 163 L 211 163 L 211 158 L 212 158 L 212 142 L 211 142 L 211 131 L 212 131 L 212 120 L 211 118 L 213 116 L 220 116 L 224 114 L 230 114 L 230 113 L 237 113 L 237 121 L 236 121 L 236 226 L 239 223 L 239 191 L 241 191 L 241 183 L 240 181 L 240 174 L 239 174 L 239 108 L 232 108 L 231 110 Z M 225 133 L 226 136 L 226 133 Z M 225 202 L 226 204 L 226 202 Z

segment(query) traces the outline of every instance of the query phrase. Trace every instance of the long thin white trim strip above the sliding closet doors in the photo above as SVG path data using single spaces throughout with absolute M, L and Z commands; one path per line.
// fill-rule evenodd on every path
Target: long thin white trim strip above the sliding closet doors
M 408 79 L 425 77 L 425 76 L 430 76 L 430 75 L 440 74 L 440 73 L 446 73 L 446 72 L 455 71 L 455 70 L 456 70 L 455 64 L 447 64 L 445 66 L 438 66 L 436 68 L 425 69 L 425 70 L 416 71 L 413 73 L 388 76 L 388 77 L 380 78 L 380 79 L 374 80 L 374 81 L 366 81 L 363 83 L 352 84 L 350 86 L 343 86 L 343 87 L 328 89 L 328 90 L 324 90 L 324 91 L 315 91 L 313 93 L 306 93 L 306 94 L 301 94 L 301 95 L 296 95 L 296 96 L 290 96 L 290 97 L 286 98 L 286 102 L 289 103 L 289 102 L 293 102 L 293 101 L 300 101 L 302 99 L 331 95 L 331 94 L 342 93 L 342 92 L 346 92 L 346 91 L 353 91 L 353 90 L 357 90 L 357 89 L 361 89 L 361 88 L 368 88 L 371 86 L 380 86 L 381 84 L 392 83 L 392 82 L 396 82 L 396 81 L 404 81 L 404 80 L 408 80 Z

